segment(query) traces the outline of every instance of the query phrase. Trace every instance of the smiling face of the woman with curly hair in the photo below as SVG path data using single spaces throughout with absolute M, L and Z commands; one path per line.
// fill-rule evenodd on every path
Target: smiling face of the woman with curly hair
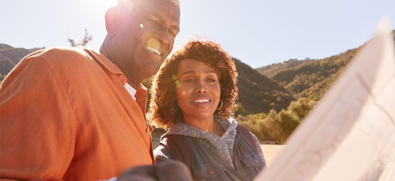
M 214 68 L 195 59 L 182 59 L 177 68 L 177 81 L 175 94 L 184 118 L 214 116 L 221 95 Z

